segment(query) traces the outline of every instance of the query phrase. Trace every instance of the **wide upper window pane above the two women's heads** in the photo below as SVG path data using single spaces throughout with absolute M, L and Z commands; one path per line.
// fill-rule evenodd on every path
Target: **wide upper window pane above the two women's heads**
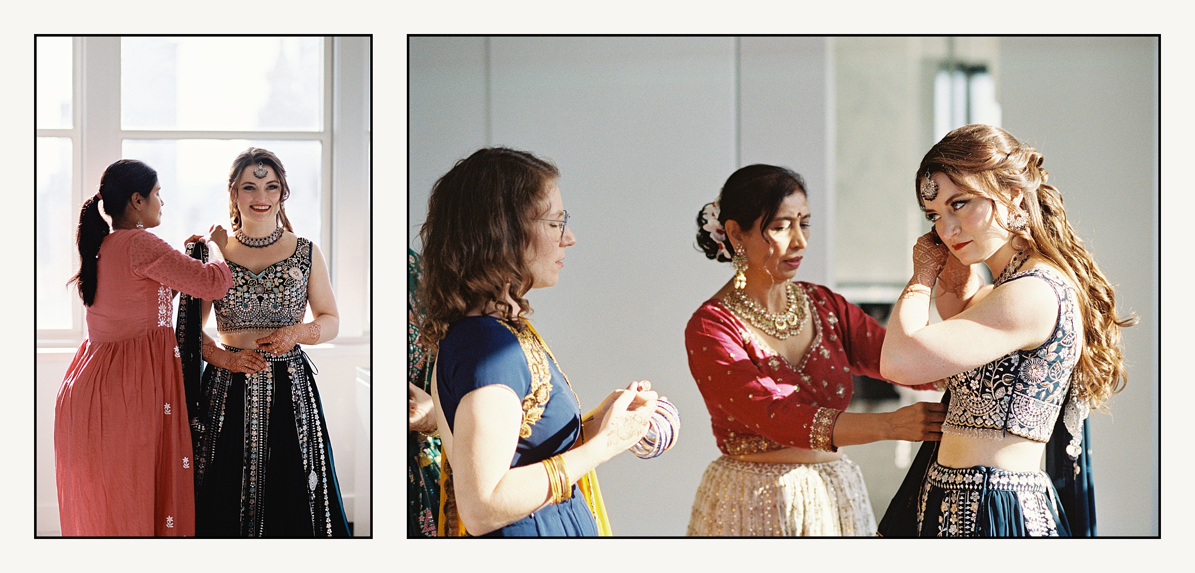
M 121 39 L 123 129 L 319 131 L 319 37 Z

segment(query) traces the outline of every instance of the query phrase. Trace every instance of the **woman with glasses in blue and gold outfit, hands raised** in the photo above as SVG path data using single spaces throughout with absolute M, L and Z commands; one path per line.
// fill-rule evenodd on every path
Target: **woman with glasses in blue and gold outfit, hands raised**
M 532 327 L 525 298 L 559 281 L 576 244 L 557 168 L 529 153 L 480 149 L 431 189 L 423 242 L 419 344 L 446 475 L 441 535 L 609 535 L 593 469 L 648 429 L 646 382 L 583 409 Z

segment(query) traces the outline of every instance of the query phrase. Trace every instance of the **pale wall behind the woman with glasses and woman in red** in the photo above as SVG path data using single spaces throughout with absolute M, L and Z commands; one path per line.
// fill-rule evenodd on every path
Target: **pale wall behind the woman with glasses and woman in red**
M 684 346 L 730 277 L 694 247 L 701 205 L 768 161 L 804 174 L 815 224 L 831 221 L 826 41 L 744 38 L 737 54 L 730 37 L 410 41 L 409 241 L 456 159 L 484 144 L 552 159 L 577 245 L 560 283 L 528 297 L 537 328 L 584 409 L 646 378 L 685 420 L 667 455 L 599 469 L 618 535 L 684 535 L 718 456 Z M 828 235 L 814 241 L 801 278 L 827 282 Z

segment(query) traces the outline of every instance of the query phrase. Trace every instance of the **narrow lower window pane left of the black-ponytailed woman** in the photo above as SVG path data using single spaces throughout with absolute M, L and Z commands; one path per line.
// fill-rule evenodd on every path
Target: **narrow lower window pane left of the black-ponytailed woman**
M 37 328 L 73 328 L 79 211 L 71 197 L 71 138 L 37 138 Z

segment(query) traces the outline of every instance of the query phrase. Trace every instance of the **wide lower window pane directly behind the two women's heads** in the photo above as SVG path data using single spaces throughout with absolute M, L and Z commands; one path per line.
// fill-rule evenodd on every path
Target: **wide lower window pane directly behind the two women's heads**
M 207 234 L 212 223 L 229 229 L 228 168 L 240 152 L 261 147 L 274 152 L 287 170 L 290 198 L 284 208 L 299 236 L 320 242 L 319 141 L 124 140 L 121 155 L 140 159 L 158 171 L 161 226 L 153 233 L 178 249 L 191 235 Z

